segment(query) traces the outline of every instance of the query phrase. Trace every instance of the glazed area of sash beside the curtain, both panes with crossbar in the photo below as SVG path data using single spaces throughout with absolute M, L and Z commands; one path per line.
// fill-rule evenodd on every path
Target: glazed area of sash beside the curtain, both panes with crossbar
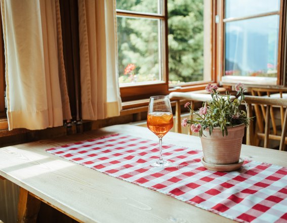
M 160 82 L 163 20 L 160 1 L 117 1 L 118 68 L 122 86 Z

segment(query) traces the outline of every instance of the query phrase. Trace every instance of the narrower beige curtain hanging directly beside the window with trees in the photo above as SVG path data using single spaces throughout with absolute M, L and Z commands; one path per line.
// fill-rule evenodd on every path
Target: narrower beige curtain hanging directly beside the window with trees
M 115 1 L 78 0 L 83 119 L 118 116 Z

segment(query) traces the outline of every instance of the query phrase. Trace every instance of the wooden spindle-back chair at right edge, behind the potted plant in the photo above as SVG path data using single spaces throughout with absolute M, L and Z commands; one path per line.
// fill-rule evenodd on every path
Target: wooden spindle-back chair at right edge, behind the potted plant
M 256 121 L 261 122 L 263 125 L 265 122 L 264 131 L 257 131 L 254 129 L 253 121 L 251 121 L 248 129 L 247 129 L 247 145 L 255 145 L 255 138 L 258 137 L 264 140 L 264 147 L 267 148 L 269 145 L 269 140 L 277 140 L 280 141 L 279 150 L 284 150 L 284 145 L 287 143 L 286 139 L 286 130 L 287 130 L 287 110 L 285 109 L 285 113 L 281 118 L 282 127 L 281 127 L 281 135 L 270 134 L 270 119 L 272 113 L 272 107 L 286 108 L 287 107 L 287 99 L 282 98 L 270 98 L 270 97 L 260 97 L 260 96 L 245 96 L 245 102 L 248 105 L 248 117 L 253 117 L 253 108 L 256 114 Z M 253 106 L 254 105 L 254 106 Z M 257 116 L 259 114 L 259 106 L 262 110 L 264 110 L 264 117 Z M 258 113 L 256 113 L 256 110 Z M 259 125 L 258 125 L 259 126 Z M 277 133 L 277 131 L 276 131 Z

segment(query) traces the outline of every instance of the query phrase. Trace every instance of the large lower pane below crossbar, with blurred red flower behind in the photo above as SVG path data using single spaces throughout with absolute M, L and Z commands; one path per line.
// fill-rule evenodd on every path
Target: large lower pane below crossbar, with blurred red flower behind
M 119 83 L 161 80 L 157 19 L 117 17 Z

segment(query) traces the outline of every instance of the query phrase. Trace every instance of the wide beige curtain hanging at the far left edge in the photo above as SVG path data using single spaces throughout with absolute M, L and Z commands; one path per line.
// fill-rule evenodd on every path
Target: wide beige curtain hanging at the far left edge
M 71 112 L 58 0 L 1 0 L 9 129 L 63 125 Z

